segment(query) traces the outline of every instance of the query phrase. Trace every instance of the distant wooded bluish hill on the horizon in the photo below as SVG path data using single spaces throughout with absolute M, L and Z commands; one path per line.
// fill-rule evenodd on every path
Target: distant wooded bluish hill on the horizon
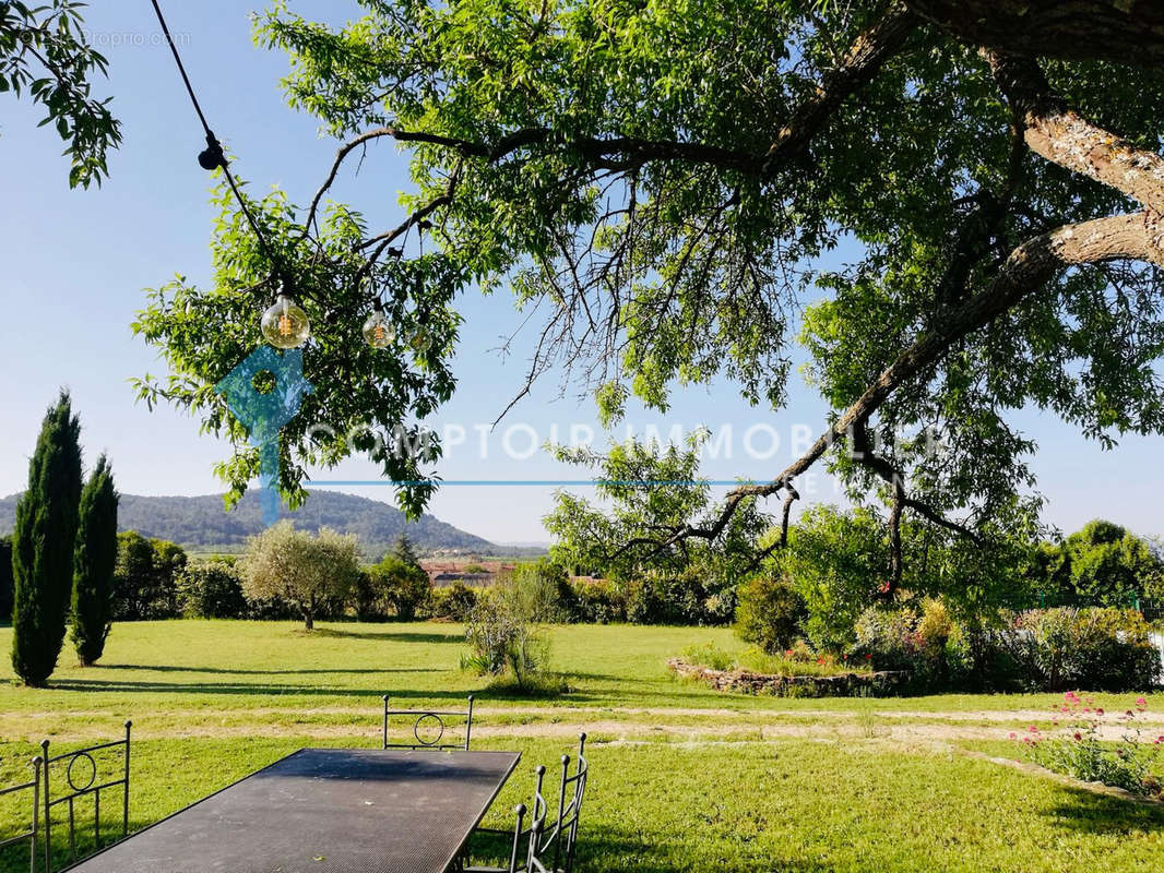
M 12 532 L 16 520 L 16 497 L 0 498 L 0 534 Z M 222 495 L 143 497 L 123 494 L 118 527 L 203 552 L 215 548 L 237 551 L 247 537 L 263 530 L 257 491 L 248 491 L 230 512 L 222 506 Z M 420 552 L 483 555 L 512 552 L 433 516 L 407 521 L 395 506 L 338 491 L 312 491 L 301 509 L 296 512 L 284 510 L 281 518 L 291 519 L 300 530 L 315 531 L 327 526 L 342 533 L 354 533 L 360 538 L 361 551 L 370 558 L 378 558 L 400 533 L 407 533 Z

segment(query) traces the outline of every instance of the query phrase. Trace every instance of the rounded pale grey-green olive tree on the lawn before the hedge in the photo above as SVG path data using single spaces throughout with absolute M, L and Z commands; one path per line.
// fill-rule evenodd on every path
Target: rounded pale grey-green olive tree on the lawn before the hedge
M 251 538 L 240 570 L 247 597 L 283 597 L 298 606 L 310 631 L 319 605 L 326 598 L 343 597 L 355 584 L 360 575 L 356 538 L 329 527 L 312 535 L 279 521 Z

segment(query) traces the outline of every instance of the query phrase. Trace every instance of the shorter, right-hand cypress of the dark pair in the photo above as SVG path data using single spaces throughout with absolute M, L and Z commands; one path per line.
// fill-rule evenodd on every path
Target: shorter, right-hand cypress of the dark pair
M 113 616 L 113 572 L 118 563 L 118 492 L 105 455 L 80 492 L 73 553 L 72 641 L 81 667 L 101 656 Z

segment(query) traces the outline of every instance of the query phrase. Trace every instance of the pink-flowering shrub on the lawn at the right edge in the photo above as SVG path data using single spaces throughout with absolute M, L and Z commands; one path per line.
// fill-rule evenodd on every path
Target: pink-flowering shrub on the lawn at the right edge
M 1105 714 L 1094 701 L 1076 691 L 1067 691 L 1063 700 L 1058 714 L 1067 724 L 1058 736 L 1046 737 L 1031 725 L 1022 737 L 1036 764 L 1073 779 L 1102 782 L 1141 796 L 1162 794 L 1164 786 L 1151 774 L 1151 768 L 1164 745 L 1164 736 L 1142 741 L 1141 721 L 1148 708 L 1143 697 L 1117 717 L 1122 738 L 1114 745 L 1100 738 Z M 1010 738 L 1017 739 L 1017 736 L 1012 733 Z

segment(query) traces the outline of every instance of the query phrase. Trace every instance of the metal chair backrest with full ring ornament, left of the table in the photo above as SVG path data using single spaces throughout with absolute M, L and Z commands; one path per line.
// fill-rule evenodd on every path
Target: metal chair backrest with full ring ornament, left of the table
M 52 808 L 66 804 L 69 809 L 69 857 L 71 861 L 77 860 L 77 815 L 76 801 L 87 795 L 93 796 L 93 840 L 98 849 L 101 847 L 101 792 L 112 788 L 121 788 L 121 836 L 129 833 L 129 729 L 132 722 L 126 722 L 126 736 L 111 743 L 98 743 L 87 748 L 77 748 L 72 752 L 64 752 L 58 755 L 49 754 L 49 740 L 41 741 L 41 757 L 43 790 L 42 802 L 44 809 L 44 870 L 45 873 L 52 871 Z M 108 754 L 101 755 L 101 752 Z M 111 758 L 115 760 L 114 771 L 109 775 L 120 773 L 120 778 L 105 778 L 102 767 L 98 758 Z M 104 762 L 104 761 L 102 761 Z M 68 792 L 59 796 L 54 796 L 54 780 L 51 773 L 58 774 L 63 771 L 64 783 Z

